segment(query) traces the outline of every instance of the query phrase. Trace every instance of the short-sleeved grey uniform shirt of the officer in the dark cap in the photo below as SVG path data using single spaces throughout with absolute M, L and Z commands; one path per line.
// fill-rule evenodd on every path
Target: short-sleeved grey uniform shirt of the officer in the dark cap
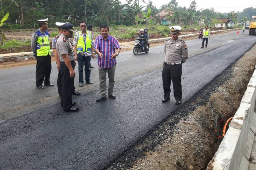
M 60 58 L 60 61 L 63 62 L 64 59 L 61 57 L 63 54 L 69 55 L 69 60 L 74 61 L 75 60 L 75 54 L 73 46 L 70 42 L 70 40 L 63 34 L 61 34 L 57 40 L 56 43 L 57 52 Z

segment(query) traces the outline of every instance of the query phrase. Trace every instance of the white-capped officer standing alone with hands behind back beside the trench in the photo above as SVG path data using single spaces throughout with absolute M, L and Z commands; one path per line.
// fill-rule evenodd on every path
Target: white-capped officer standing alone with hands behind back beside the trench
M 179 39 L 181 27 L 172 26 L 172 38 L 165 42 L 165 62 L 163 63 L 162 80 L 163 91 L 165 93 L 162 102 L 170 100 L 170 86 L 173 84 L 173 94 L 176 100 L 175 104 L 180 104 L 182 99 L 181 74 L 182 63 L 188 58 L 188 50 L 185 41 Z

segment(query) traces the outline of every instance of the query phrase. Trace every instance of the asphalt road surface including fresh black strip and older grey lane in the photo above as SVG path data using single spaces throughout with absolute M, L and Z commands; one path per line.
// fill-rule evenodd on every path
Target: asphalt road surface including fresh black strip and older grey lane
M 235 31 L 211 36 L 207 49 L 200 48 L 201 42 L 186 41 L 190 57 L 182 65 L 182 103 L 250 50 L 256 36 Z M 82 95 L 73 97 L 77 113 L 62 111 L 56 86 L 35 88 L 35 65 L 1 70 L 0 169 L 101 169 L 182 107 L 173 97 L 161 102 L 163 61 L 163 46 L 136 56 L 120 53 L 117 98 L 99 103 L 98 68 L 93 68 L 95 84 L 77 88 Z M 56 85 L 52 66 L 51 83 Z M 75 82 L 77 87 L 78 73 Z

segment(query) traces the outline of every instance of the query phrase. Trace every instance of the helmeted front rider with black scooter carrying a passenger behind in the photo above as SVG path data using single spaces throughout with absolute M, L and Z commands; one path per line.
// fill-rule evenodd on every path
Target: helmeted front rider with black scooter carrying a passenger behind
M 133 47 L 133 54 L 137 55 L 139 52 L 147 53 L 149 48 L 145 48 L 145 34 L 144 30 L 140 29 L 139 37 L 135 39 L 134 47 Z

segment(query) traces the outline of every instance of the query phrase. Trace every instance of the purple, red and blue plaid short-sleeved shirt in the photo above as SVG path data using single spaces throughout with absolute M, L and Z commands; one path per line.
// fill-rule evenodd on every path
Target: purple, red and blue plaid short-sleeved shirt
M 121 48 L 117 39 L 111 35 L 106 40 L 99 35 L 95 39 L 94 49 L 98 49 L 102 54 L 102 58 L 98 57 L 98 66 L 100 68 L 111 68 L 116 64 L 116 58 L 112 59 L 111 55 L 115 53 L 115 49 Z

